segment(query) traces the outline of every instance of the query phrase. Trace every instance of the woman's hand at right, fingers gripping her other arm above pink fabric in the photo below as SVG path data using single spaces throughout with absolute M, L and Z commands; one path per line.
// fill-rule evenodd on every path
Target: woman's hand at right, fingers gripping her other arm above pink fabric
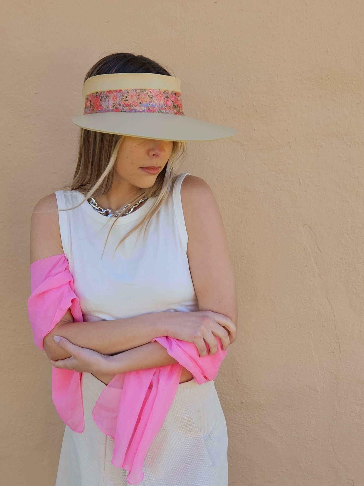
M 209 354 L 217 351 L 215 336 L 221 339 L 222 348 L 225 351 L 236 339 L 236 326 L 224 314 L 213 311 L 194 312 L 168 312 L 167 335 L 181 341 L 194 343 L 200 356 L 207 353 L 206 343 L 209 345 Z

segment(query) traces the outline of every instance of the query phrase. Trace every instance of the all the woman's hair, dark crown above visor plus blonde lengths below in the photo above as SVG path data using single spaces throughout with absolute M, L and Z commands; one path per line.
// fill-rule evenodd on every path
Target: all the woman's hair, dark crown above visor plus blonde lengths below
M 118 72 L 150 72 L 155 74 L 171 74 L 160 64 L 142 55 L 134 55 L 125 52 L 116 52 L 109 54 L 92 66 L 84 77 L 84 81 L 91 76 L 98 74 L 112 74 Z M 119 148 L 121 147 L 125 136 L 114 135 L 109 133 L 94 132 L 80 128 L 79 149 L 76 170 L 73 174 L 70 184 L 63 186 L 63 190 L 76 190 L 84 195 L 83 201 L 72 208 L 58 209 L 66 211 L 78 208 L 89 197 L 97 197 L 110 191 L 116 169 L 116 158 Z M 134 226 L 116 246 L 118 246 L 138 228 L 145 225 L 144 234 L 150 223 L 152 216 L 161 208 L 167 199 L 175 176 L 178 174 L 185 156 L 187 154 L 186 142 L 174 141 L 171 155 L 168 158 L 162 172 L 158 174 L 157 179 L 152 187 L 139 189 L 137 195 L 128 203 L 135 204 L 141 197 L 156 197 L 154 204 L 149 208 L 144 218 Z M 87 203 L 88 204 L 88 203 Z M 118 208 L 118 209 L 121 209 Z M 136 209 L 137 210 L 137 209 Z M 108 232 L 102 255 L 105 250 L 107 240 L 117 218 L 125 214 L 127 209 L 117 217 L 105 217 L 105 224 L 109 220 L 114 220 Z M 114 252 L 114 255 L 115 255 Z M 101 255 L 101 258 L 102 258 Z

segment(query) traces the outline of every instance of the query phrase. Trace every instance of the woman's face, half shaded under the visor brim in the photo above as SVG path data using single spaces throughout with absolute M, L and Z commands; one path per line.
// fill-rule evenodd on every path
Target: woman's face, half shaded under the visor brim
M 124 137 L 116 157 L 116 184 L 151 187 L 167 163 L 172 148 L 172 141 Z M 150 169 L 143 170 L 143 167 Z

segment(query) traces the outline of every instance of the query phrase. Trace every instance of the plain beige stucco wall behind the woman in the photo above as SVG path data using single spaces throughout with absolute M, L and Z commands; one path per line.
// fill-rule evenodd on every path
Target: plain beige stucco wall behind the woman
M 364 477 L 360 1 L 12 1 L 1 29 L 1 484 L 53 485 L 64 424 L 27 317 L 34 204 L 73 172 L 86 70 L 145 54 L 185 114 L 237 128 L 188 144 L 236 269 L 239 337 L 215 381 L 229 486 Z M 187 486 L 187 485 L 186 485 Z

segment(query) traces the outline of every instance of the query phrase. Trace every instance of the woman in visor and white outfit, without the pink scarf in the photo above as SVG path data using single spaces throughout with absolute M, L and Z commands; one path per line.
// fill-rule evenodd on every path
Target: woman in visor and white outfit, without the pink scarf
M 75 322 L 68 308 L 39 345 L 56 371 L 80 373 L 82 388 L 84 429 L 66 425 L 56 486 L 136 484 L 113 465 L 114 439 L 93 410 L 123 373 L 176 366 L 154 339 L 193 343 L 206 358 L 236 339 L 233 268 L 213 192 L 178 174 L 186 140 L 235 131 L 185 117 L 178 82 L 144 56 L 99 60 L 73 120 L 81 131 L 72 183 L 33 209 L 31 268 L 66 257 L 82 309 Z M 195 376 L 182 366 L 143 486 L 228 484 L 225 417 L 214 381 Z

